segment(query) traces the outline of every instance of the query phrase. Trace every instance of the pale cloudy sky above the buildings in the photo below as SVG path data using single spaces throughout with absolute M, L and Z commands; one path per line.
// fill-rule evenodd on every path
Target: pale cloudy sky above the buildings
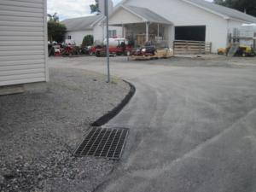
M 114 6 L 121 0 L 112 1 Z M 207 1 L 212 2 L 213 0 Z M 50 15 L 57 13 L 60 20 L 89 16 L 91 15 L 90 4 L 93 3 L 95 3 L 95 0 L 47 0 L 47 12 Z

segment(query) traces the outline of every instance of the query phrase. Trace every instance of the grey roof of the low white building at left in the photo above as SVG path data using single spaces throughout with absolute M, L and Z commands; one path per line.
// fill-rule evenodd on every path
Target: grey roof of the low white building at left
M 102 18 L 102 15 L 93 15 L 86 17 L 78 17 L 67 20 L 62 20 L 60 23 L 65 24 L 67 27 L 66 31 L 83 31 L 93 29 L 93 24 L 96 20 Z

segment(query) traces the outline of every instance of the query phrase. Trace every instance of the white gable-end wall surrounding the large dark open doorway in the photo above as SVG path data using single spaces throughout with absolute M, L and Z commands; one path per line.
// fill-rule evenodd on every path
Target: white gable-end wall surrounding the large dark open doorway
M 227 21 L 218 15 L 181 0 L 159 0 L 157 3 L 154 0 L 129 0 L 125 4 L 148 8 L 172 21 L 174 26 L 207 26 L 206 41 L 212 42 L 212 52 L 225 47 Z M 169 27 L 171 42 L 174 39 L 174 26 Z

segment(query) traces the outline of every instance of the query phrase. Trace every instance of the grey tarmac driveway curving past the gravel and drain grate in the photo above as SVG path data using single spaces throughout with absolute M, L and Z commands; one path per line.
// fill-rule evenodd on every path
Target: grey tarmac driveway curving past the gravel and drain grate
M 49 65 L 106 73 L 102 58 L 93 59 L 50 58 Z M 121 59 L 112 73 L 137 91 L 104 127 L 130 134 L 119 166 L 96 191 L 256 191 L 256 67 Z

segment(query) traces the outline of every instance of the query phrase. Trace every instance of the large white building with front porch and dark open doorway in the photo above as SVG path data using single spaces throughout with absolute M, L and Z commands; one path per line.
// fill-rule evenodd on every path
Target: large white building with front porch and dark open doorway
M 157 3 L 123 0 L 116 5 L 108 22 L 124 26 L 125 33 L 131 33 L 134 38 L 140 32 L 160 32 L 169 47 L 174 40 L 211 42 L 212 52 L 216 53 L 217 49 L 226 47 L 228 33 L 234 36 L 234 28 L 240 28 L 243 23 L 256 23 L 256 18 L 203 0 L 158 0 Z

